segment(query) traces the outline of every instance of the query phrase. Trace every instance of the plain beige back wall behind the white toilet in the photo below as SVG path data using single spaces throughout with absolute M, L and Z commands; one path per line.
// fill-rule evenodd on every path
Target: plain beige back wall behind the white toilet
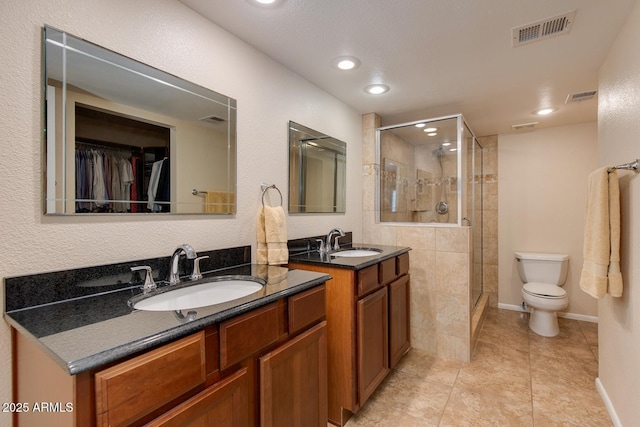
M 569 108 L 569 107 L 567 107 Z M 596 301 L 579 288 L 587 177 L 596 168 L 597 125 L 500 135 L 499 304 L 522 302 L 514 252 L 569 254 L 568 316 L 595 320 Z

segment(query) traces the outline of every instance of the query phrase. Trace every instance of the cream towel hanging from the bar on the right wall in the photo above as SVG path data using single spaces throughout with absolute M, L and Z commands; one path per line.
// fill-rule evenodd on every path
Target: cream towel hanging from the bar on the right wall
M 622 296 L 618 175 L 602 167 L 589 175 L 580 288 L 594 298 Z

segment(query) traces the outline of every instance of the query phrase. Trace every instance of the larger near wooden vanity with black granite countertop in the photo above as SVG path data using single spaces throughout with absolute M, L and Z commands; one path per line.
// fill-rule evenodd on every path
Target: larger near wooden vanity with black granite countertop
M 133 310 L 140 289 L 130 286 L 7 311 L 14 423 L 325 427 L 329 276 L 255 265 L 222 274 L 266 284 L 188 313 Z

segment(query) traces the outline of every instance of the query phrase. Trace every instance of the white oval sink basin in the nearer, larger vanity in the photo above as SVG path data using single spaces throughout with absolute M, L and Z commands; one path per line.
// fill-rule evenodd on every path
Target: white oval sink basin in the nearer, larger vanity
M 262 287 L 262 283 L 250 279 L 212 280 L 144 298 L 134 303 L 133 308 L 144 311 L 188 310 L 233 301 L 258 292 Z

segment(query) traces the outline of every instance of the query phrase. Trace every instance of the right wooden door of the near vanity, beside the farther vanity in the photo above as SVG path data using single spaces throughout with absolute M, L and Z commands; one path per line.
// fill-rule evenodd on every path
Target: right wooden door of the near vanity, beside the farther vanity
M 260 425 L 327 425 L 327 322 L 260 358 Z

